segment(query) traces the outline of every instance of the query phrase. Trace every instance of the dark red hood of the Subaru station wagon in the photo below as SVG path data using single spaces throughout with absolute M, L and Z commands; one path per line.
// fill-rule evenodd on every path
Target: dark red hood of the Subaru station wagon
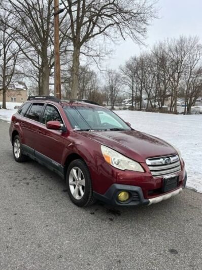
M 169 143 L 137 130 L 85 131 L 82 134 L 139 162 L 145 162 L 148 157 L 177 154 Z

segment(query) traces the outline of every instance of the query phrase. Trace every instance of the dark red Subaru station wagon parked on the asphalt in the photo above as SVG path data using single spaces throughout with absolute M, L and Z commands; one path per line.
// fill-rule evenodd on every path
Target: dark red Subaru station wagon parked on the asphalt
M 16 161 L 31 158 L 59 174 L 78 206 L 151 205 L 186 184 L 179 150 L 91 101 L 29 97 L 12 116 L 10 139 Z

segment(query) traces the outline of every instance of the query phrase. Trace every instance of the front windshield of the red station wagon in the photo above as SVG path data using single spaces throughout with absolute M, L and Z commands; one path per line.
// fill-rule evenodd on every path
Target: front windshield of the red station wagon
M 76 130 L 131 130 L 121 118 L 104 107 L 68 105 L 63 109 Z

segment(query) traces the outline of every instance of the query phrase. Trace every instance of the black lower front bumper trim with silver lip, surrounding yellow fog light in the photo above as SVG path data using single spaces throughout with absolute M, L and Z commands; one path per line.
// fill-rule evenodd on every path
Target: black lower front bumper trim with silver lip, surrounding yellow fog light
M 186 185 L 186 181 L 187 181 L 187 174 L 185 174 L 182 186 L 179 186 L 173 191 L 160 194 L 159 196 L 155 196 L 153 198 L 148 199 L 144 198 L 143 191 L 140 186 L 125 185 L 125 184 L 112 184 L 105 194 L 93 192 L 93 196 L 95 199 L 103 201 L 104 203 L 110 205 L 119 205 L 119 206 L 151 205 L 170 199 L 171 197 L 180 194 Z M 118 201 L 117 197 L 120 191 L 129 192 L 130 198 L 126 202 Z

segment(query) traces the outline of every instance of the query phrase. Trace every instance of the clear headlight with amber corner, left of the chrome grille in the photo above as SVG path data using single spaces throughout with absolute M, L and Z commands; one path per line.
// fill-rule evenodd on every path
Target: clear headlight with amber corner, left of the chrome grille
M 129 170 L 136 172 L 144 172 L 142 166 L 126 156 L 112 150 L 111 148 L 101 145 L 101 151 L 107 163 L 120 170 Z

